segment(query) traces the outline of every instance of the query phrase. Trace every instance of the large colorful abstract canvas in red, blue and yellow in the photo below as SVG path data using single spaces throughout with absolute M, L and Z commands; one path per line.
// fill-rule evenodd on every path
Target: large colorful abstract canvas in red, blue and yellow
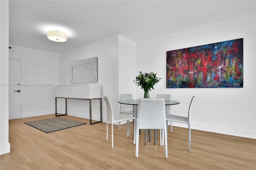
M 166 52 L 166 88 L 243 87 L 243 38 Z

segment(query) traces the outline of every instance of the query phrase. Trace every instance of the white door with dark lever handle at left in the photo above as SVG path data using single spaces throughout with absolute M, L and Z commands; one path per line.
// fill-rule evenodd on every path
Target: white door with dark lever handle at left
M 9 119 L 21 117 L 21 61 L 9 59 Z

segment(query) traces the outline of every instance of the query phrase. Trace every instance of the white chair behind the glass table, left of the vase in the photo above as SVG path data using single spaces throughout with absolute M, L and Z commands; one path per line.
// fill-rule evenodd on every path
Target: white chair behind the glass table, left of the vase
M 133 99 L 132 94 L 120 94 L 119 95 L 120 100 L 130 100 Z M 119 107 L 119 114 L 133 114 L 133 106 L 132 105 L 124 105 L 120 104 Z M 119 122 L 119 130 L 121 130 L 121 122 Z

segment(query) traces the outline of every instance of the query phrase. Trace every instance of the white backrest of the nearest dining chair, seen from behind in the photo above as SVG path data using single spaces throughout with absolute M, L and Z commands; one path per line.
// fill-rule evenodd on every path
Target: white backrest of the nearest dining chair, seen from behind
M 164 99 L 140 99 L 137 126 L 139 129 L 166 128 Z

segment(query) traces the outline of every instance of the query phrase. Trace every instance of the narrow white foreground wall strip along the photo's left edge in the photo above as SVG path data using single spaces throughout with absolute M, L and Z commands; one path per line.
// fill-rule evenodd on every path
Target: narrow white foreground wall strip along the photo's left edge
M 9 1 L 0 1 L 0 84 L 8 83 Z M 10 152 L 8 87 L 0 86 L 0 154 Z

